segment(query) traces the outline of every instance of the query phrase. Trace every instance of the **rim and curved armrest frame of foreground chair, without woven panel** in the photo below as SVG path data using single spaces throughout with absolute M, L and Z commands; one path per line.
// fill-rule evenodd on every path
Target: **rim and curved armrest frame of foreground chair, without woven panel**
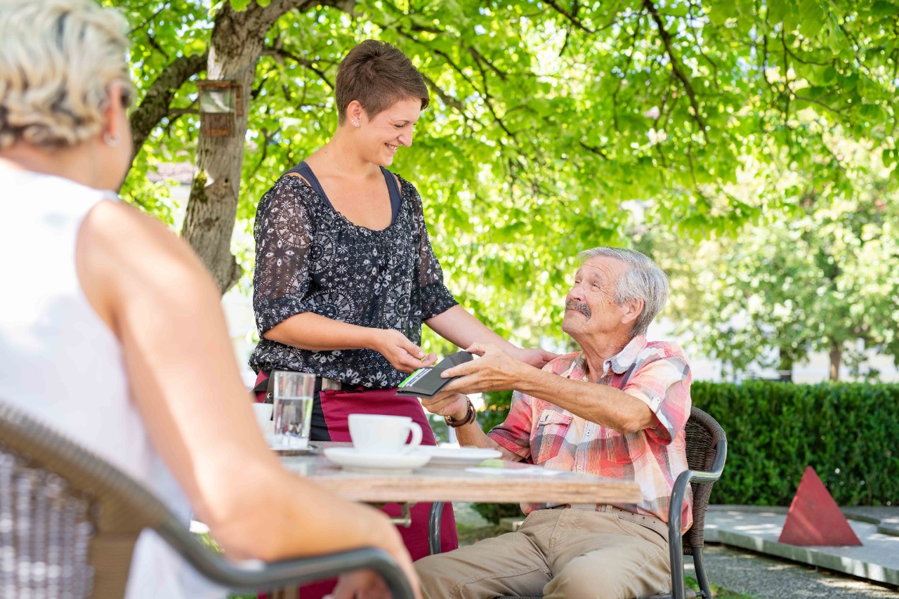
M 51 472 L 68 491 L 89 501 L 93 534 L 91 597 L 121 597 L 130 552 L 138 534 L 150 528 L 210 581 L 236 592 L 296 586 L 362 568 L 384 578 L 394 597 L 412 599 L 413 592 L 396 561 L 384 551 L 362 548 L 327 555 L 265 563 L 233 563 L 201 543 L 147 487 L 79 443 L 0 402 L 0 454 L 10 454 L 22 469 Z M 7 548 L 0 547 L 0 550 Z M 122 559 L 122 552 L 126 556 Z M 109 568 L 110 571 L 104 571 Z M 121 572 L 121 568 L 125 571 Z M 116 570 L 116 571 L 112 571 Z M 0 578 L 3 571 L 0 570 Z M 7 581 L 8 582 L 8 581 Z M 0 588 L 4 586 L 0 579 Z

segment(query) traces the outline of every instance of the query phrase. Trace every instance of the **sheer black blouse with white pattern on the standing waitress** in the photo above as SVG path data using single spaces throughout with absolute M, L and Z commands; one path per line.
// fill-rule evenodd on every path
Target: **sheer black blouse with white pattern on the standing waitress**
M 422 322 L 458 302 L 443 284 L 418 191 L 400 178 L 399 210 L 389 227 L 376 231 L 334 210 L 311 171 L 294 170 L 312 185 L 282 176 L 256 209 L 253 308 L 260 336 L 295 314 L 313 312 L 393 328 L 420 344 Z M 396 198 L 396 180 L 382 170 Z M 264 337 L 250 366 L 312 372 L 370 389 L 396 387 L 406 376 L 373 350 L 313 352 Z

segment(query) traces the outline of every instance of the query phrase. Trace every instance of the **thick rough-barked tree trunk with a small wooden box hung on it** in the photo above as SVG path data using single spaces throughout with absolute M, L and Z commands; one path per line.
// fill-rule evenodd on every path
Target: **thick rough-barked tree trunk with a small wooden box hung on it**
M 216 16 L 209 40 L 207 78 L 230 80 L 240 86 L 243 109 L 236 116 L 234 135 L 197 143 L 197 176 L 191 187 L 182 237 L 200 255 L 222 293 L 240 279 L 241 268 L 231 255 L 231 235 L 237 215 L 250 89 L 256 63 L 263 53 L 266 32 L 281 14 L 306 9 L 311 0 L 273 0 L 268 6 L 251 4 L 236 12 L 225 2 Z

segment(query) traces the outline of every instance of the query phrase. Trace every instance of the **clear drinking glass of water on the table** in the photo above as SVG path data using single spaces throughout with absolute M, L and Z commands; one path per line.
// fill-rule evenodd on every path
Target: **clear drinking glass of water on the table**
M 274 380 L 274 447 L 306 449 L 312 420 L 312 394 L 316 376 L 306 372 L 273 371 Z

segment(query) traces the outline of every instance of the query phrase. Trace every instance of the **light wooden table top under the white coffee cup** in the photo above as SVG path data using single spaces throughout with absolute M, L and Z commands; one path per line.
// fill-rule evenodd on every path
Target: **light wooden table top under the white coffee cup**
M 324 443 L 349 446 L 349 443 Z M 503 461 L 502 468 L 472 472 L 476 464 L 428 466 L 411 473 L 349 472 L 316 454 L 282 457 L 285 468 L 316 481 L 339 496 L 368 503 L 474 501 L 485 503 L 632 504 L 640 500 L 635 482 L 583 472 L 534 473 L 534 466 Z M 486 470 L 491 470 L 487 473 Z M 515 472 L 521 470 L 521 473 Z M 528 471 L 530 470 L 530 472 Z

